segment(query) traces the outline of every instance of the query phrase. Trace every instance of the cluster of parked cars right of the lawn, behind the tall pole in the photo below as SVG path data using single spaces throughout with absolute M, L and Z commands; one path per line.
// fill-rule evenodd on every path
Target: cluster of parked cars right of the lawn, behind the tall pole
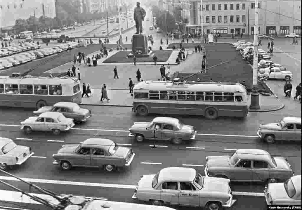
M 248 61 L 253 65 L 254 60 L 254 47 L 252 42 L 246 42 L 245 40 L 240 40 L 233 44 L 242 54 L 243 60 Z M 265 50 L 257 49 L 258 54 L 258 67 L 262 67 L 261 71 L 258 72 L 258 76 L 265 79 L 292 79 L 292 72 L 288 71 L 284 66 L 279 63 L 274 63 L 271 57 L 267 54 Z

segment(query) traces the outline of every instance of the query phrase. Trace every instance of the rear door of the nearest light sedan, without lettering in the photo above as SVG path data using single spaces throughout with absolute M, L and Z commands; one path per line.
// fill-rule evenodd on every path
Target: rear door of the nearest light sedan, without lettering
M 179 204 L 178 182 L 164 182 L 162 183 L 162 189 L 160 191 L 160 199 L 168 204 Z

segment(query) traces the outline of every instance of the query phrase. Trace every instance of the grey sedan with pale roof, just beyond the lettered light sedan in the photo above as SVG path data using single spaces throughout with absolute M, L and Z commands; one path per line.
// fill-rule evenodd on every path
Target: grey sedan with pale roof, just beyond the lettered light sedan
M 285 181 L 294 175 L 284 157 L 272 157 L 259 149 L 238 149 L 230 157 L 208 156 L 206 176 L 223 177 L 232 181 Z

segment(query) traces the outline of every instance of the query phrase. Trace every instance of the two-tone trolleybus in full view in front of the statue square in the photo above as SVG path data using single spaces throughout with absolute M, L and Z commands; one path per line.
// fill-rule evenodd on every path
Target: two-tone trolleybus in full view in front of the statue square
M 143 81 L 133 87 L 133 108 L 138 115 L 204 115 L 246 117 L 247 93 L 231 82 Z

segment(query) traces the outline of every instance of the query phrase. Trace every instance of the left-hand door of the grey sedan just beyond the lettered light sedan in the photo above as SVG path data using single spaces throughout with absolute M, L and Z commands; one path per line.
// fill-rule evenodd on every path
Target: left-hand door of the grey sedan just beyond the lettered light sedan
M 235 180 L 252 180 L 252 161 L 240 160 L 234 167 Z

